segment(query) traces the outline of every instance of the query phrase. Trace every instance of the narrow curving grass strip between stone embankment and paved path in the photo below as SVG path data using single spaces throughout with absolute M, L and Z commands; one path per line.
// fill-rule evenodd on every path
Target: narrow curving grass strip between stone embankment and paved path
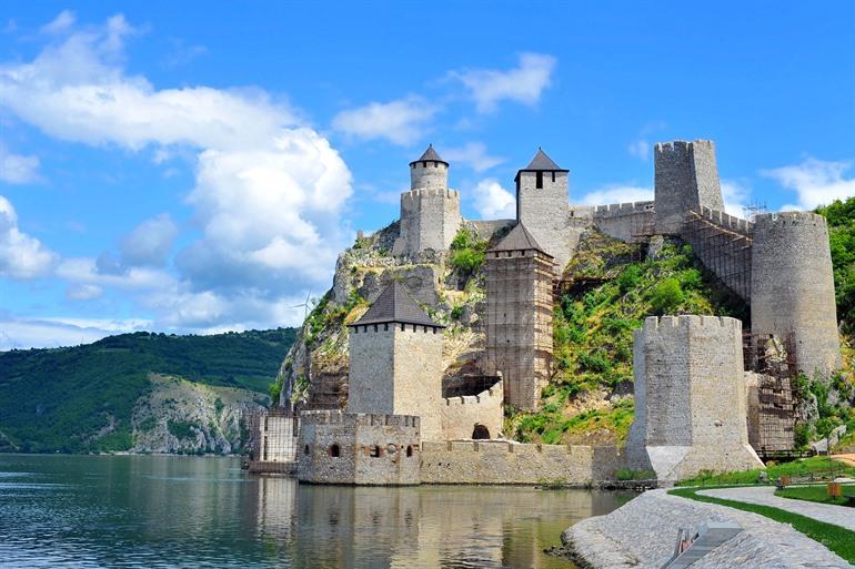
M 737 510 L 758 514 L 775 521 L 779 521 L 781 524 L 788 524 L 811 539 L 824 545 L 846 561 L 851 563 L 855 562 L 855 531 L 824 521 L 817 521 L 806 516 L 799 516 L 798 514 L 773 508 L 771 506 L 725 500 L 722 498 L 713 498 L 712 496 L 698 496 L 695 494 L 698 489 L 700 488 L 677 488 L 670 490 L 668 494 L 690 500 L 718 504 L 720 506 L 727 506 Z

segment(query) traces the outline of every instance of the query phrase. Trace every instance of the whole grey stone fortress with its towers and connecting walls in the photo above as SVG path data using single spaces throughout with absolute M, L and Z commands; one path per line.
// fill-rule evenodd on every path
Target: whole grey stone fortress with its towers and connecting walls
M 654 154 L 653 201 L 574 206 L 570 172 L 539 149 L 515 176 L 515 220 L 479 222 L 461 216 L 460 194 L 447 184 L 450 165 L 433 146 L 411 162 L 411 189 L 401 195 L 391 246 L 396 263 L 444 263 L 463 225 L 494 243 L 485 260 L 477 369 L 456 383 L 443 377 L 444 326 L 423 309 L 436 303 L 436 274 L 429 271 L 428 284 L 412 289 L 416 297 L 392 274 L 369 298 L 368 312 L 348 325 L 346 409 L 311 410 L 310 404 L 300 429 L 291 430 L 299 430 L 289 447 L 296 449 L 299 478 L 589 484 L 630 467 L 676 480 L 703 469 L 762 466 L 750 443 L 792 447 L 792 414 L 758 396 L 789 384 L 756 365 L 755 356 L 770 345 L 786 346 L 788 367 L 776 369 L 791 375 L 824 377 L 839 367 L 825 221 L 806 212 L 754 220 L 724 213 L 712 141 L 660 143 Z M 708 316 L 647 318 L 634 337 L 636 416 L 623 449 L 501 440 L 503 405 L 540 406 L 552 374 L 555 291 L 589 231 L 630 243 L 675 236 L 691 244 L 750 307 L 751 325 Z M 334 295 L 348 292 L 336 273 Z M 779 430 L 775 437 L 764 431 L 771 425 Z

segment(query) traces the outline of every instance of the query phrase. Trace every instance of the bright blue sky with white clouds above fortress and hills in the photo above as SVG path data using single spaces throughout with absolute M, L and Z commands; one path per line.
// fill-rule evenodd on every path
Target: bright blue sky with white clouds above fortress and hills
M 477 220 L 695 139 L 733 214 L 855 195 L 855 3 L 7 1 L 0 350 L 296 325 L 429 143 Z

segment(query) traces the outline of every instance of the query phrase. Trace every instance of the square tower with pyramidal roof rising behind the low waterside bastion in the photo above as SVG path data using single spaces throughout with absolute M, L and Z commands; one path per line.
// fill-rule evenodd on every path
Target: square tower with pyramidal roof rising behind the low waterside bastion
M 413 415 L 423 440 L 440 440 L 444 326 L 393 282 L 349 326 L 349 413 Z

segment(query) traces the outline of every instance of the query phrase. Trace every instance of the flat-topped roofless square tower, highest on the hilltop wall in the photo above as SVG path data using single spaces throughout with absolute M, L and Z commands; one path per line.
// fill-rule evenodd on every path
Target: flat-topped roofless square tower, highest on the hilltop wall
M 657 233 L 680 233 L 688 210 L 724 211 L 713 141 L 660 142 L 654 161 Z

